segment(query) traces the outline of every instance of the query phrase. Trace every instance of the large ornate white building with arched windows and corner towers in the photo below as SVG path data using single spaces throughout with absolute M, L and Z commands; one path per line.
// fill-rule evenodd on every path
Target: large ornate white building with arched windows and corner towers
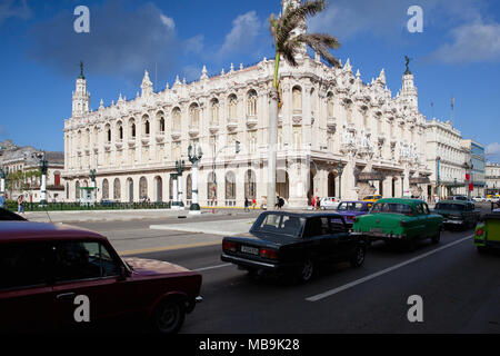
M 277 195 L 289 207 L 307 206 L 312 195 L 426 197 L 431 174 L 426 168 L 426 118 L 409 69 L 394 98 L 383 69 L 364 83 L 349 59 L 342 68 L 330 68 L 318 56 L 303 53 L 298 62 L 297 68 L 280 67 Z M 94 111 L 81 73 L 72 116 L 64 121 L 63 178 L 70 199 L 79 198 L 79 188 L 90 184 L 90 169 L 96 169 L 98 199 L 169 201 L 176 161 L 182 159 L 186 170 L 179 179 L 189 205 L 188 146 L 199 145 L 201 206 L 242 206 L 246 197 L 261 205 L 273 67 L 264 58 L 248 68 L 231 65 L 214 77 L 203 67 L 199 80 L 187 83 L 178 77 L 160 92 L 146 71 L 134 99 L 120 95 L 109 107 L 101 100 Z M 239 154 L 236 141 L 241 142 Z

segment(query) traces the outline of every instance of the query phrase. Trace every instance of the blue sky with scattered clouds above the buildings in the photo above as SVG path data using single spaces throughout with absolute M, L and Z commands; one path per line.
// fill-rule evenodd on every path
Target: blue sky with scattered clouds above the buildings
M 90 33 L 73 31 L 80 4 L 90 10 Z M 413 4 L 423 10 L 422 33 L 407 29 Z M 96 109 L 120 92 L 133 98 L 144 69 L 162 90 L 177 75 L 199 78 L 203 65 L 217 75 L 231 62 L 273 58 L 268 18 L 280 7 L 279 0 L 0 0 L 0 140 L 63 149 L 80 59 Z M 342 46 L 334 55 L 350 58 L 363 81 L 384 68 L 393 96 L 408 55 L 423 115 L 449 119 L 453 96 L 456 127 L 500 161 L 498 1 L 330 0 L 309 29 L 337 36 Z

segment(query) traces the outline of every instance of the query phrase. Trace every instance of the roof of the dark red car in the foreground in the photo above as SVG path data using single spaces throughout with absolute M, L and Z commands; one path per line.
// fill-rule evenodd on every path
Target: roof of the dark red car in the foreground
M 84 228 L 64 224 L 0 221 L 0 243 L 60 239 L 106 240 L 106 237 Z

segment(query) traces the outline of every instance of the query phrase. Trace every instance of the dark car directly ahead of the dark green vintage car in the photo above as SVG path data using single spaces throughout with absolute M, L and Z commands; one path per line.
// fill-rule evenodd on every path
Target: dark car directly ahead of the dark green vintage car
M 443 217 L 443 225 L 461 228 L 474 227 L 481 216 L 481 210 L 476 209 L 474 205 L 462 200 L 441 200 L 433 210 Z

